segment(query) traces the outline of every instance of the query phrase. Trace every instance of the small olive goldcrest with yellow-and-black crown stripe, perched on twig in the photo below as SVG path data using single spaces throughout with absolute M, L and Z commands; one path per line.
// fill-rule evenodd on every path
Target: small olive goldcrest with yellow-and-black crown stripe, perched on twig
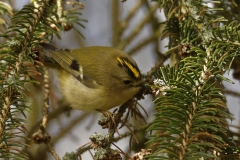
M 121 50 L 104 46 L 68 50 L 40 45 L 47 55 L 45 62 L 59 66 L 61 93 L 75 109 L 109 110 L 141 89 L 136 62 Z

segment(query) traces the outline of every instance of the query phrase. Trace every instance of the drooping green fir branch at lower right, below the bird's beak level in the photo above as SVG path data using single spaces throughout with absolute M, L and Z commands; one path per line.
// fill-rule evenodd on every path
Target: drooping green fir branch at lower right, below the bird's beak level
M 158 156 L 152 157 L 165 159 L 161 153 L 168 153 L 170 159 L 215 157 L 205 154 L 205 150 L 220 152 L 225 144 L 218 135 L 228 128 L 226 118 L 230 117 L 224 97 L 217 88 L 209 90 L 209 85 L 196 83 L 193 79 L 199 79 L 197 74 L 190 77 L 185 71 L 176 70 L 179 67 L 162 68 L 155 73 L 159 78 L 155 85 L 163 96 L 155 99 L 158 114 L 150 126 L 150 130 L 160 131 L 150 141 L 159 144 Z M 169 141 L 174 145 L 169 145 Z

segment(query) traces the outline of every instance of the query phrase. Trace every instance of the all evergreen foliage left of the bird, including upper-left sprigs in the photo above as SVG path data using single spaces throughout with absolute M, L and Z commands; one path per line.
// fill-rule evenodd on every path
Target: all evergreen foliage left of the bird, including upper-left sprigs
M 33 95 L 25 83 L 39 83 L 32 77 L 41 74 L 34 69 L 34 66 L 41 66 L 34 54 L 37 44 L 54 35 L 60 38 L 58 32 L 63 23 L 56 10 L 57 7 L 48 1 L 34 1 L 17 12 L 7 32 L 0 35 L 6 39 L 0 45 L 0 158 L 28 159 L 22 149 L 26 146 L 23 139 L 27 133 L 24 124 L 25 113 L 29 111 L 28 97 Z M 10 6 L 0 2 L 0 13 L 11 13 Z M 85 21 L 77 18 L 76 13 L 69 11 L 64 15 L 68 18 L 65 27 Z M 6 26 L 3 19 L 0 21 Z

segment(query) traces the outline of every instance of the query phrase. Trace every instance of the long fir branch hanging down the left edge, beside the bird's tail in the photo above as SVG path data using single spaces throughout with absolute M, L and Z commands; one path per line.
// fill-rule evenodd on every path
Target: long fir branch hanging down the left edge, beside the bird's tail
M 47 1 L 39 1 L 36 7 L 25 6 L 12 18 L 12 25 L 8 32 L 1 35 L 8 38 L 8 41 L 0 46 L 2 57 L 0 68 L 1 158 L 28 159 L 26 153 L 21 152 L 25 144 L 14 143 L 16 138 L 21 138 L 18 134 L 26 134 L 24 130 L 20 130 L 25 120 L 18 118 L 17 114 L 22 113 L 25 117 L 24 112 L 29 105 L 26 103 L 29 93 L 28 89 L 24 87 L 24 83 L 36 83 L 36 81 L 28 78 L 29 65 L 25 65 L 25 62 L 32 63 L 32 57 L 29 56 L 32 53 L 29 47 L 39 42 L 39 33 L 48 27 L 47 25 L 39 27 L 39 24 L 51 22 L 44 17 L 49 13 L 47 8 L 49 8 Z M 16 129 L 20 132 L 16 132 Z

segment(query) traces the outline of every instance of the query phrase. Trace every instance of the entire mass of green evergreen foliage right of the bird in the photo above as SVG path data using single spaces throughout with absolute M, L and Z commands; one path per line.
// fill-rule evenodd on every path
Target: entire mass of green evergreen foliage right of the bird
M 225 149 L 232 117 L 222 84 L 231 82 L 223 73 L 239 56 L 239 24 L 225 25 L 227 20 L 215 14 L 222 9 L 208 7 L 218 2 L 158 0 L 167 17 L 167 54 L 175 55 L 176 64 L 154 73 L 157 114 L 149 143 L 157 149 L 152 159 L 239 158 L 238 149 L 235 154 Z

